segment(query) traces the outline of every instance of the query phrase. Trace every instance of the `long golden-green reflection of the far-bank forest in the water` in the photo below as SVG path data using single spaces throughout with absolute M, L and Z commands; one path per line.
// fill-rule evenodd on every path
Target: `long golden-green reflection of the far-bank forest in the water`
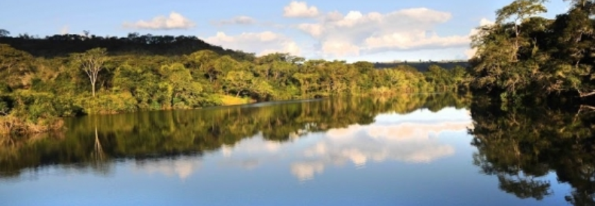
M 286 141 L 310 132 L 370 124 L 379 113 L 466 105 L 469 98 L 453 94 L 404 95 L 73 118 L 66 120 L 68 129 L 62 133 L 0 138 L 0 177 L 19 176 L 22 169 L 44 165 L 91 167 L 113 158 L 196 155 L 258 133 L 266 140 Z

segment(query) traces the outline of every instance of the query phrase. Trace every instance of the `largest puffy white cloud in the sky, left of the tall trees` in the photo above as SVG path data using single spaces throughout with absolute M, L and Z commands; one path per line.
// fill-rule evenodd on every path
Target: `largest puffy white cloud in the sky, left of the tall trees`
M 441 36 L 435 28 L 449 12 L 410 8 L 388 13 L 328 12 L 316 23 L 296 26 L 319 41 L 324 57 L 346 57 L 389 50 L 422 50 L 469 46 L 469 35 Z

